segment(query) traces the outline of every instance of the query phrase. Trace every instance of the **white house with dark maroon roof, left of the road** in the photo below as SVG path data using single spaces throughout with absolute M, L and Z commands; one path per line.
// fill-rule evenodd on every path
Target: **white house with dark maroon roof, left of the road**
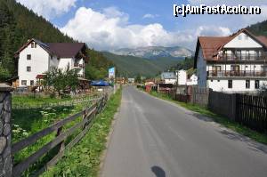
M 79 77 L 85 77 L 84 43 L 50 43 L 44 44 L 36 39 L 28 40 L 15 57 L 18 58 L 18 76 L 21 85 L 36 85 L 44 72 L 53 67 L 77 69 Z

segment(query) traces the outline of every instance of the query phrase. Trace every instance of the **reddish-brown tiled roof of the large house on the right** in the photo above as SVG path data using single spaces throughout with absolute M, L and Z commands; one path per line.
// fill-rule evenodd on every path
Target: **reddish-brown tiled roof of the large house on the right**
M 240 29 L 237 33 L 234 33 L 231 36 L 198 36 L 194 67 L 197 67 L 198 52 L 200 46 L 203 52 L 204 60 L 217 60 L 215 56 L 219 51 L 223 49 L 223 46 L 231 42 L 232 39 L 234 39 L 236 36 L 239 36 L 239 34 L 241 33 L 246 33 L 247 36 L 250 36 L 257 43 L 262 44 L 263 47 L 267 48 L 267 37 L 254 36 L 246 28 Z

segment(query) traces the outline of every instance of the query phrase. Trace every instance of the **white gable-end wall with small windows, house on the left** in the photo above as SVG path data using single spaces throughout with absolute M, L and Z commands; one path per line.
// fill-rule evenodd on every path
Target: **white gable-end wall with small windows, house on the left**
M 27 55 L 31 54 L 31 60 L 27 60 Z M 48 70 L 49 54 L 44 51 L 38 44 L 36 48 L 31 48 L 29 44 L 20 52 L 18 75 L 21 86 L 21 80 L 27 80 L 27 85 L 30 85 L 30 80 L 34 80 L 36 84 L 36 76 Z M 27 72 L 27 67 L 31 67 L 31 71 Z

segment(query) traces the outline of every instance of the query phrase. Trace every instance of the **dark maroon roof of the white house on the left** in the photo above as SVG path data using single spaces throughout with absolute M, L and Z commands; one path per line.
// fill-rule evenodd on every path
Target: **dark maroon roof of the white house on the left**
M 78 52 L 81 52 L 85 49 L 85 43 L 43 43 L 35 38 L 28 40 L 26 44 L 23 44 L 22 47 L 15 52 L 15 55 L 19 55 L 21 51 L 23 51 L 28 44 L 32 42 L 36 42 L 39 46 L 41 46 L 46 52 L 49 54 L 56 55 L 60 58 L 72 58 L 77 56 Z

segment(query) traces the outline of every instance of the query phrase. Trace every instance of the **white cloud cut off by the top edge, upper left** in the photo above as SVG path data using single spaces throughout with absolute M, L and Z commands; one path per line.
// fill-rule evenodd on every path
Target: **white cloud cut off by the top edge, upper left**
M 77 0 L 16 0 L 25 5 L 28 9 L 44 16 L 45 19 L 52 19 L 65 12 L 69 12 L 74 7 Z

